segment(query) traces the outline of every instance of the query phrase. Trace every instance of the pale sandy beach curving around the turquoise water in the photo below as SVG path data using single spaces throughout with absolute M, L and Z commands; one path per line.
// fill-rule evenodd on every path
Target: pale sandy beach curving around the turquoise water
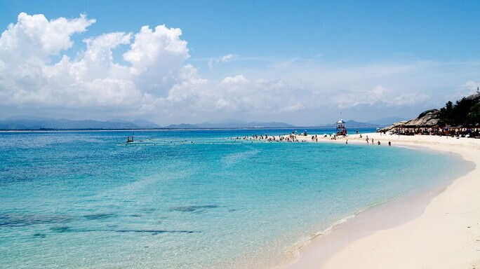
M 480 140 L 434 136 L 350 135 L 319 142 L 366 144 L 455 153 L 474 168 L 424 193 L 373 205 L 299 249 L 282 268 L 475 268 L 480 263 Z M 311 142 L 309 135 L 298 138 Z M 401 212 L 399 214 L 398 212 Z

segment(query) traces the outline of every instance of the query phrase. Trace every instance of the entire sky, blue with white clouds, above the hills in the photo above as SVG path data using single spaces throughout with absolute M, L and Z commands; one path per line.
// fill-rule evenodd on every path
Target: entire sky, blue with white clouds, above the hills
M 0 118 L 413 118 L 480 85 L 480 1 L 0 0 Z

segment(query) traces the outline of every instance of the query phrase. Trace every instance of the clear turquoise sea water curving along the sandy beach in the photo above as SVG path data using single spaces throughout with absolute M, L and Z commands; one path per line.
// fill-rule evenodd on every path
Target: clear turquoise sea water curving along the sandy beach
M 228 139 L 260 132 L 291 130 L 135 132 L 128 145 L 131 132 L 0 133 L 0 268 L 264 268 L 467 167 L 388 146 Z

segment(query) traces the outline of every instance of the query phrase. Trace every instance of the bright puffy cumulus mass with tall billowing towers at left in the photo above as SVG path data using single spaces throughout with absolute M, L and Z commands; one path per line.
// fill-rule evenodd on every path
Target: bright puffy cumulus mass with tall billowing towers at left
M 19 106 L 106 107 L 152 109 L 173 85 L 186 83 L 194 71 L 185 64 L 187 42 L 180 29 L 142 27 L 136 34 L 115 32 L 84 39 L 86 50 L 76 59 L 60 55 L 72 47 L 71 36 L 86 32 L 95 20 L 47 20 L 20 13 L 18 22 L 0 37 L 0 96 Z M 112 50 L 130 49 L 114 62 Z M 193 78 L 192 78 L 193 79 Z

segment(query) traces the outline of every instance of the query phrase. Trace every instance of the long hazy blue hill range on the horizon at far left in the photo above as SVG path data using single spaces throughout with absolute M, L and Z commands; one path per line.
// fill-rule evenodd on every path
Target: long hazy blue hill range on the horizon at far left
M 0 130 L 122 130 L 158 127 L 147 120 L 99 121 L 67 120 L 39 117 L 13 117 L 0 120 Z

